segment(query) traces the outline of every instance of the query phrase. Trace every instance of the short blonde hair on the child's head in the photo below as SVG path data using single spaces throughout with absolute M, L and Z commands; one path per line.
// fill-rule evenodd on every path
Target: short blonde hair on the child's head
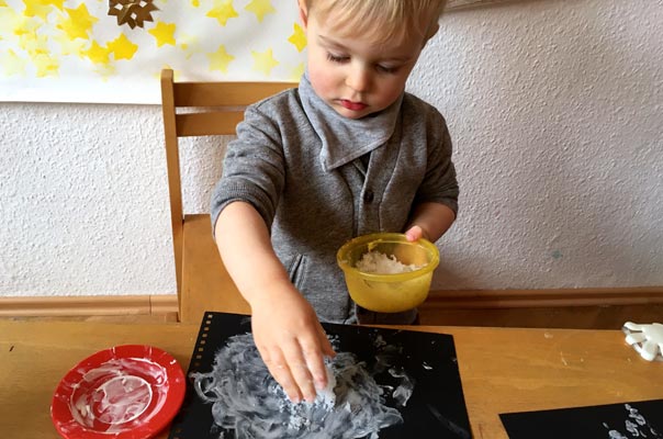
M 447 0 L 305 0 L 308 14 L 319 20 L 334 18 L 332 26 L 349 35 L 368 34 L 386 41 L 413 30 L 426 42 L 437 31 Z M 420 20 L 428 18 L 426 29 Z

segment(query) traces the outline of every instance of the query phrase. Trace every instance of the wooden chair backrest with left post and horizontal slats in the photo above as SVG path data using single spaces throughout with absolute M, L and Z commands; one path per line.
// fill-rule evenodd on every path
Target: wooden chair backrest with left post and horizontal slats
M 184 221 L 178 138 L 234 135 L 247 105 L 296 86 L 295 82 L 176 82 L 172 70 L 161 70 L 161 108 L 178 300 L 182 291 Z

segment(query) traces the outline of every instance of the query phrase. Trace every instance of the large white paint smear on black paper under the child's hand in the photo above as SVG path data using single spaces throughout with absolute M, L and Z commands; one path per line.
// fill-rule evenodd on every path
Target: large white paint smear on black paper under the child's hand
M 232 337 L 217 352 L 211 372 L 192 373 L 191 378 L 198 395 L 212 404 L 214 423 L 234 430 L 237 439 L 378 438 L 381 429 L 403 423 L 401 413 L 385 405 L 385 398 L 391 396 L 404 406 L 414 389 L 401 370 L 392 373 L 401 376 L 393 394 L 377 384 L 371 373 L 384 371 L 387 357 L 378 354 L 374 370 L 369 372 L 353 353 L 338 352 L 327 360 L 335 385 L 313 403 L 293 404 L 270 375 L 252 336 L 245 334 Z

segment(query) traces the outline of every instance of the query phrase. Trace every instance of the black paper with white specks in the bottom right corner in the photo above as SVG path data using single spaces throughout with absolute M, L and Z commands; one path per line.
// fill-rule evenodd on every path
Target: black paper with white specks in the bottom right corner
M 663 399 L 501 414 L 509 439 L 663 439 Z

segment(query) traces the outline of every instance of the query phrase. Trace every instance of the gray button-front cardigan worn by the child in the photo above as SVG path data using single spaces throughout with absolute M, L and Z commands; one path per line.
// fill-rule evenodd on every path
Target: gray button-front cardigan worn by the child
M 392 126 L 378 130 L 386 130 L 389 137 L 370 148 L 367 169 L 351 150 L 366 145 L 364 134 L 372 135 L 366 125 L 371 124 L 370 116 L 361 122 L 363 128 L 342 121 L 305 79 L 300 89 L 246 110 L 212 196 L 212 224 L 233 201 L 252 204 L 271 229 L 273 248 L 291 281 L 318 317 L 351 323 L 355 305 L 336 264 L 336 251 L 358 235 L 403 232 L 412 210 L 422 202 L 442 203 L 456 212 L 459 189 L 451 140 L 440 113 L 404 93 L 384 111 L 392 113 L 386 117 Z M 341 134 L 335 137 L 330 131 Z M 344 134 L 347 131 L 350 137 Z M 353 144 L 335 154 L 329 150 L 334 142 L 322 137 L 344 143 L 349 138 Z M 344 148 L 349 153 L 344 155 Z M 349 161 L 330 165 L 330 156 Z

